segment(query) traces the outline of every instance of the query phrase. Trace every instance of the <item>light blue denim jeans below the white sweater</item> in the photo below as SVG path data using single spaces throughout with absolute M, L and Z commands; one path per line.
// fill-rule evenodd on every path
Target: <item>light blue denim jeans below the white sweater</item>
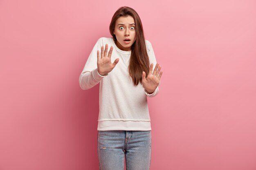
M 97 152 L 100 170 L 149 170 L 151 130 L 98 131 Z

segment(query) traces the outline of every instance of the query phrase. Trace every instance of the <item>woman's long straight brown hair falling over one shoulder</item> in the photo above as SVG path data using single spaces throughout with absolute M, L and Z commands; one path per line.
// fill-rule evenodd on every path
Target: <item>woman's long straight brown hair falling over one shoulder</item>
M 112 17 L 109 31 L 114 41 L 117 41 L 117 38 L 114 34 L 116 20 L 121 16 L 126 17 L 128 15 L 130 15 L 134 19 L 136 31 L 136 40 L 131 46 L 131 56 L 128 72 L 133 80 L 133 83 L 137 86 L 139 82 L 142 82 L 142 71 L 146 73 L 146 77 L 148 76 L 150 65 L 145 44 L 143 27 L 138 13 L 130 7 L 120 7 L 119 9 L 117 9 Z

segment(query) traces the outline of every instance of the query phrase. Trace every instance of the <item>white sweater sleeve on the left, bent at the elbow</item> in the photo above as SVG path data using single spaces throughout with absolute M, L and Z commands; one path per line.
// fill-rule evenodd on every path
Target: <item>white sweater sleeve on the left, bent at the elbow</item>
M 97 50 L 100 51 L 102 45 L 103 40 L 102 38 L 99 38 L 85 63 L 82 73 L 79 76 L 79 85 L 83 90 L 92 88 L 98 84 L 101 79 L 108 75 L 100 75 L 97 68 Z

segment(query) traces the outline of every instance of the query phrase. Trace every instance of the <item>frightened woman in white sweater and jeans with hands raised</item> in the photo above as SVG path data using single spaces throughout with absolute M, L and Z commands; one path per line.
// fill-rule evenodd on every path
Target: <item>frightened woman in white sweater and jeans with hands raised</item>
M 151 125 L 147 97 L 159 92 L 163 72 L 151 43 L 144 39 L 134 9 L 120 7 L 109 29 L 112 38 L 99 38 L 79 77 L 84 90 L 100 83 L 99 169 L 124 170 L 125 157 L 127 170 L 149 170 Z

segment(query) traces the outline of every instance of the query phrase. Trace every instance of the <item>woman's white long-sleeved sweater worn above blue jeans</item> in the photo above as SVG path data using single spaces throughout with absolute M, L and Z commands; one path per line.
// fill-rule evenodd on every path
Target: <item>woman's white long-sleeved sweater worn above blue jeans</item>
M 150 63 L 153 68 L 157 64 L 151 43 L 145 40 Z M 97 70 L 97 50 L 108 44 L 108 51 L 113 46 L 111 63 L 119 58 L 115 68 L 106 76 Z M 99 85 L 99 119 L 97 130 L 151 130 L 148 112 L 147 96 L 153 97 L 159 92 L 159 87 L 152 94 L 148 94 L 141 83 L 133 84 L 128 73 L 131 51 L 120 50 L 113 38 L 99 38 L 90 53 L 83 71 L 79 77 L 79 84 L 83 90 Z M 142 73 L 141 73 L 142 74 Z

